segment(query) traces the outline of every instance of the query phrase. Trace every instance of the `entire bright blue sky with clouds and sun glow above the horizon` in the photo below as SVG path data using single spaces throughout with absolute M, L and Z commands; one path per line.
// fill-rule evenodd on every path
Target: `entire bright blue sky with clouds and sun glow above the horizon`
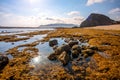
M 120 20 L 120 0 L 0 0 L 1 26 L 80 25 L 91 13 Z

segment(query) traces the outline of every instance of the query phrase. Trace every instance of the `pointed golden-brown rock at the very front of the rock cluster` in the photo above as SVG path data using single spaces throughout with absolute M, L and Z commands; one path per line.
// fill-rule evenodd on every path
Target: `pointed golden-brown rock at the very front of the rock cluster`
M 65 51 L 60 54 L 58 59 L 61 61 L 63 66 L 67 65 L 69 61 L 71 61 L 70 55 L 68 55 Z

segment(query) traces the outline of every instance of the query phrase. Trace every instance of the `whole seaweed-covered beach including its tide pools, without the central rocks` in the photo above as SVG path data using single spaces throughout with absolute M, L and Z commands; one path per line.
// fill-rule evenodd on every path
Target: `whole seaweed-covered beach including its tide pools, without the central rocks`
M 69 39 L 84 46 L 81 46 L 79 59 L 72 58 L 73 73 L 66 71 L 59 60 L 48 59 L 54 52 L 49 46 L 50 40 L 57 40 L 59 47 L 69 44 Z M 0 35 L 0 44 L 9 46 L 4 50 L 1 45 L 1 54 L 11 56 L 0 71 L 1 80 L 120 79 L 120 25 L 10 33 Z M 90 46 L 94 46 L 91 48 L 94 53 L 84 54 Z

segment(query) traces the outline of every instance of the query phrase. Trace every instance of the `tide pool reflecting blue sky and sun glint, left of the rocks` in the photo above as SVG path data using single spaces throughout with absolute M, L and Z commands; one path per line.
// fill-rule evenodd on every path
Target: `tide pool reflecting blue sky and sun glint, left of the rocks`
M 58 40 L 58 46 L 61 46 L 62 44 L 65 44 L 64 39 L 61 38 L 52 38 L 51 40 L 56 39 Z M 39 65 L 46 65 L 48 63 L 51 63 L 50 60 L 48 60 L 48 56 L 53 53 L 52 47 L 49 46 L 49 42 L 45 42 L 43 44 L 39 44 L 36 46 L 36 48 L 39 49 L 38 56 L 31 59 L 30 64 L 35 65 L 36 67 Z M 53 62 L 52 62 L 53 63 Z

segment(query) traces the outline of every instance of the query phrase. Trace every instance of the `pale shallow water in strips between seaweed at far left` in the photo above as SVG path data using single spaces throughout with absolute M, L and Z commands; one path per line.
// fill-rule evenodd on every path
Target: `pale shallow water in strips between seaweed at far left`
M 18 28 L 13 28 L 13 29 L 0 29 L 0 35 L 14 35 L 14 34 L 21 34 L 21 33 L 26 33 L 26 32 L 33 32 L 33 31 L 44 31 L 44 30 L 54 30 L 54 29 L 18 29 Z M 25 38 L 27 36 L 20 36 L 16 35 L 18 38 Z M 22 40 L 22 41 L 17 41 L 17 42 L 4 42 L 0 41 L 0 52 L 5 53 L 5 51 L 9 50 L 10 48 L 22 45 L 22 44 L 28 44 L 32 43 L 37 40 L 43 39 L 43 37 L 47 36 L 47 34 L 44 35 L 34 35 L 33 37 L 30 37 L 28 40 Z

